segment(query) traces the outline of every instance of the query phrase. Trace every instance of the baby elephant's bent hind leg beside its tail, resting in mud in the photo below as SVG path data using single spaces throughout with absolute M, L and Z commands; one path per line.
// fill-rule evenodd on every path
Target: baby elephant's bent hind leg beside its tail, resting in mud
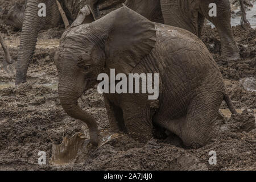
M 220 92 L 212 91 L 202 92 L 193 98 L 179 135 L 185 146 L 203 146 L 217 137 L 222 122 L 218 112 L 222 100 Z

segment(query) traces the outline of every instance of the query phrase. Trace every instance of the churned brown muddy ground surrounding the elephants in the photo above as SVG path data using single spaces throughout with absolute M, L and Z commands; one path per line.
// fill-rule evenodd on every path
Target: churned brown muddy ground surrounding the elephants
M 0 33 L 10 47 L 11 57 L 17 60 L 20 31 L 3 23 L 3 11 L 13 2 L 0 1 Z M 236 2 L 232 6 L 236 6 Z M 251 2 L 255 4 L 255 1 Z M 247 6 L 246 9 L 251 8 Z M 233 11 L 233 18 L 239 18 L 237 12 Z M 255 16 L 250 18 L 256 19 Z M 96 89 L 91 89 L 79 102 L 96 118 L 101 131 L 101 146 L 96 150 L 88 144 L 86 125 L 68 117 L 58 98 L 53 56 L 63 31 L 63 26 L 57 26 L 40 32 L 28 68 L 28 82 L 20 86 L 14 86 L 13 73 L 3 70 L 3 51 L 0 49 L 0 170 L 256 170 L 255 29 L 233 27 L 242 59 L 229 62 L 220 58 L 216 29 L 206 26 L 203 30 L 202 40 L 217 61 L 229 95 L 240 113 L 231 115 L 223 102 L 220 111 L 225 115 L 225 121 L 217 139 L 204 147 L 186 148 L 171 138 L 152 138 L 148 143 L 139 143 L 125 134 L 109 133 L 104 100 Z M 72 136 L 71 140 L 67 139 Z M 79 148 L 72 151 L 75 159 L 69 160 L 70 156 L 65 156 L 67 148 L 63 145 L 55 145 L 63 139 L 67 146 L 75 143 Z M 61 147 L 64 151 L 57 159 L 56 153 Z M 38 164 L 39 151 L 46 152 L 46 165 Z M 208 162 L 210 151 L 217 154 L 216 165 Z M 66 162 L 69 164 L 64 165 Z

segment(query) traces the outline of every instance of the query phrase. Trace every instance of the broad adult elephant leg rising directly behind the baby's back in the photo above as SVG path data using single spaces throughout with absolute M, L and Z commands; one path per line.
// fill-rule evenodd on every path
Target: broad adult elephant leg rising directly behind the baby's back
M 198 0 L 160 0 L 164 23 L 197 35 Z

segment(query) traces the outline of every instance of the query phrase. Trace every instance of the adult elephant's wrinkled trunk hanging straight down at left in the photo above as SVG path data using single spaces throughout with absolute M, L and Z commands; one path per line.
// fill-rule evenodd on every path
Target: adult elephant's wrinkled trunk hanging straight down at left
M 28 64 L 35 51 L 36 38 L 38 36 L 40 27 L 40 19 L 38 16 L 39 3 L 39 0 L 27 1 L 27 8 L 22 26 L 22 34 L 20 36 L 18 63 L 16 65 L 16 85 L 26 82 Z

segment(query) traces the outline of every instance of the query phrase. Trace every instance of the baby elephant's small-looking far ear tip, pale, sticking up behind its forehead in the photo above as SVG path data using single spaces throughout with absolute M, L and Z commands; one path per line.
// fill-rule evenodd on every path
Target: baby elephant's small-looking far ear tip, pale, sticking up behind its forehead
M 95 21 L 93 11 L 90 8 L 89 5 L 85 5 L 82 7 L 82 9 L 79 11 L 79 14 L 77 15 L 77 18 L 75 21 L 71 24 L 69 28 L 79 26 L 80 24 L 84 23 L 92 23 Z

